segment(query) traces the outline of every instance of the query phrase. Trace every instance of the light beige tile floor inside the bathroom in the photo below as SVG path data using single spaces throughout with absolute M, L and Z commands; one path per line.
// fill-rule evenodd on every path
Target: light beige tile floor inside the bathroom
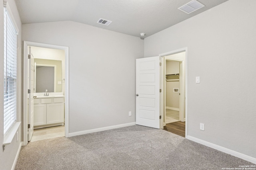
M 30 142 L 65 136 L 65 125 L 34 129 Z

